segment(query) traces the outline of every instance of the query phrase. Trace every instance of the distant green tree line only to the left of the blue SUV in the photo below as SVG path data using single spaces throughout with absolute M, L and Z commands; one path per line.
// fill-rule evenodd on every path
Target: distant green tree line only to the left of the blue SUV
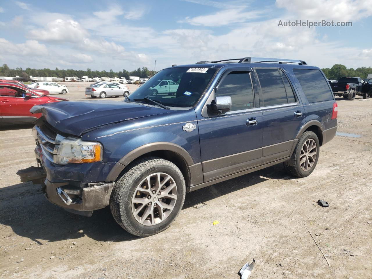
M 89 68 L 84 70 L 73 70 L 73 69 L 67 69 L 67 70 L 61 70 L 58 68 L 55 68 L 54 70 L 44 68 L 44 69 L 31 69 L 31 68 L 26 68 L 23 70 L 22 68 L 15 68 L 11 69 L 8 67 L 7 64 L 3 64 L 0 67 L 0 76 L 5 76 L 5 77 L 15 77 L 15 76 L 20 76 L 20 77 L 83 77 L 83 76 L 88 76 L 90 78 L 93 77 L 125 77 L 126 79 L 129 79 L 129 76 L 135 76 L 135 77 L 142 77 L 142 78 L 148 78 L 152 77 L 155 74 L 155 71 L 148 70 L 146 67 L 137 68 L 134 71 L 127 71 L 127 70 L 122 70 L 118 72 L 114 72 L 113 70 L 110 71 L 92 71 Z

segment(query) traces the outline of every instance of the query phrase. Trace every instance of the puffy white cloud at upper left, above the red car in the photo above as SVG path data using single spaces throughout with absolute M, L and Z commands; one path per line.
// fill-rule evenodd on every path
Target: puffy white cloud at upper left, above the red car
M 49 42 L 80 42 L 88 33 L 74 20 L 56 19 L 44 29 L 33 29 L 30 36 L 33 39 Z

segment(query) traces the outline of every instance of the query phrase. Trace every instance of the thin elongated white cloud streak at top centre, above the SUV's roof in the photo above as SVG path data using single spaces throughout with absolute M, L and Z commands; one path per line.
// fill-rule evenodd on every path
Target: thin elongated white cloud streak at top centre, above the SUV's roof
M 251 19 L 257 19 L 264 14 L 264 10 L 251 10 L 242 12 L 240 9 L 222 10 L 214 14 L 186 17 L 184 20 L 179 20 L 179 23 L 189 23 L 191 25 L 202 26 L 223 26 L 232 23 L 247 22 Z

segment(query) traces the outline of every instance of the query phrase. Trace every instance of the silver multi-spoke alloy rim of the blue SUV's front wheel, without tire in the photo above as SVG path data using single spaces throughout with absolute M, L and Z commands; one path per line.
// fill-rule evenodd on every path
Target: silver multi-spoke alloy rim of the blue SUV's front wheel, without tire
M 166 173 L 152 173 L 135 189 L 132 213 L 142 225 L 163 222 L 173 211 L 177 200 L 177 187 L 173 177 Z

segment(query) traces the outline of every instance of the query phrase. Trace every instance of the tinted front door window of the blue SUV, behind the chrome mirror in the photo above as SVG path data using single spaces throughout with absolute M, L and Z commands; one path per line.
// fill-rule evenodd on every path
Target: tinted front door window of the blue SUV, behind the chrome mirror
M 253 90 L 248 71 L 234 71 L 229 73 L 215 94 L 231 97 L 231 110 L 253 108 Z

